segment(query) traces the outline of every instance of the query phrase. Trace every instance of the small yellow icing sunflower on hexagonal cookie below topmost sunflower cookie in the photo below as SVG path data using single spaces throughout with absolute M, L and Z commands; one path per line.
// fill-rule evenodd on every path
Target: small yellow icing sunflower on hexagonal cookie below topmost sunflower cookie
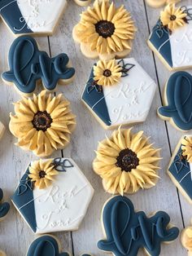
M 121 70 L 116 60 L 99 60 L 94 65 L 94 80 L 99 86 L 112 86 L 120 81 Z

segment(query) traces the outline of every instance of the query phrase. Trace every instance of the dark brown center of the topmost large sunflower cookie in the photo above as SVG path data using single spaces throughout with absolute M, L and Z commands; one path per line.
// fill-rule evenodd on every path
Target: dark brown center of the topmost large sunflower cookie
M 109 38 L 114 33 L 116 28 L 111 21 L 100 20 L 97 24 L 95 24 L 95 29 L 99 36 Z

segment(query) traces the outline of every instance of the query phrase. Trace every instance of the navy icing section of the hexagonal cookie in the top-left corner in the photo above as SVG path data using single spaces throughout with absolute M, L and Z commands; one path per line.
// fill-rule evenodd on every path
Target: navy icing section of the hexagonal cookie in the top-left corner
M 28 28 L 16 0 L 0 0 L 0 14 L 13 33 L 33 33 Z

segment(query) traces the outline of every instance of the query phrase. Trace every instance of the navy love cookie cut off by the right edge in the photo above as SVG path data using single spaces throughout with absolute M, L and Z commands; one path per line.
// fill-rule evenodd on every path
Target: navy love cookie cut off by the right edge
M 187 131 L 192 129 L 191 102 L 192 76 L 184 71 L 173 73 L 164 89 L 164 106 L 157 113 L 178 130 Z

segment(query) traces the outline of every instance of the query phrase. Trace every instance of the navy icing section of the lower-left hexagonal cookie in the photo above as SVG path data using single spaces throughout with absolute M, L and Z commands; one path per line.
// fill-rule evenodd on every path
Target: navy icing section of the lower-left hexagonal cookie
M 28 179 L 29 170 L 26 171 L 20 181 L 20 185 L 16 188 L 12 201 L 16 205 L 17 209 L 24 216 L 26 222 L 33 229 L 33 232 L 37 231 L 37 222 L 35 215 L 35 206 L 33 198 L 33 188 L 30 188 L 30 184 L 26 183 Z

